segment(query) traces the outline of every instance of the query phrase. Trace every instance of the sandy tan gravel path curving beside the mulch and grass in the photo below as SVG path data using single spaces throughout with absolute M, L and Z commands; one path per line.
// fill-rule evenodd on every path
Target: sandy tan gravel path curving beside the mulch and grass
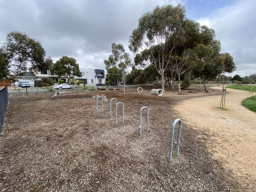
M 256 187 L 256 113 L 241 105 L 252 95 L 255 93 L 228 89 L 227 111 L 217 108 L 220 95 L 184 100 L 175 107 L 185 123 L 214 135 L 208 143 L 213 158 L 232 170 L 244 191 L 255 191 Z

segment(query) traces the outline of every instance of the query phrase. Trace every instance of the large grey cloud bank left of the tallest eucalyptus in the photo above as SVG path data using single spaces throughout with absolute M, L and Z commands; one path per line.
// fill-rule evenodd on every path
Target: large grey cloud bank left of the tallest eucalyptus
M 112 42 L 124 44 L 129 52 L 129 35 L 143 13 L 157 4 L 177 3 L 175 0 L 0 1 L 0 21 L 4 26 L 0 29 L 0 43 L 8 32 L 18 30 L 39 40 L 54 61 L 67 55 L 76 58 L 82 67 L 104 68 L 103 61 L 108 58 Z

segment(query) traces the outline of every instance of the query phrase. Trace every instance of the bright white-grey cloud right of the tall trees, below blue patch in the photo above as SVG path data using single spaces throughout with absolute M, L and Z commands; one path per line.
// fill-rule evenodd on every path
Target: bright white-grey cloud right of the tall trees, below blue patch
M 229 52 L 234 57 L 237 67 L 234 74 L 241 76 L 256 72 L 255 7 L 255 0 L 238 1 L 197 19 L 201 24 L 215 29 L 223 52 Z

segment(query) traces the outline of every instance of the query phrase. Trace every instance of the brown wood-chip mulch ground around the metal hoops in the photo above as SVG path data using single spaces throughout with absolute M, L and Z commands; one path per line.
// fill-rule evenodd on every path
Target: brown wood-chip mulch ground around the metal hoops
M 182 119 L 172 107 L 209 93 L 169 90 L 158 97 L 143 89 L 99 91 L 108 98 L 103 113 L 101 102 L 95 112 L 94 92 L 73 91 L 52 99 L 50 93 L 10 96 L 0 139 L 0 190 L 239 191 L 232 172 L 207 151 L 211 135 L 186 124 L 180 154 L 168 162 L 172 122 Z M 114 102 L 109 116 L 113 97 L 124 103 L 124 124 L 119 106 L 115 125 Z M 149 108 L 150 132 L 145 110 L 140 136 L 143 106 Z

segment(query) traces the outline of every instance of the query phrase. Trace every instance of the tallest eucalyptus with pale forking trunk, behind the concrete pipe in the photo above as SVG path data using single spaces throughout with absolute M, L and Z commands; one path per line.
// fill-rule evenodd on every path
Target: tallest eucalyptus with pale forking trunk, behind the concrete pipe
M 182 24 L 186 19 L 186 8 L 177 6 L 156 6 L 139 19 L 137 28 L 129 38 L 129 49 L 139 53 L 140 61 L 151 64 L 161 76 L 164 91 L 164 71 L 166 70 L 173 50 L 182 40 Z M 155 53 L 154 53 L 155 52 Z

